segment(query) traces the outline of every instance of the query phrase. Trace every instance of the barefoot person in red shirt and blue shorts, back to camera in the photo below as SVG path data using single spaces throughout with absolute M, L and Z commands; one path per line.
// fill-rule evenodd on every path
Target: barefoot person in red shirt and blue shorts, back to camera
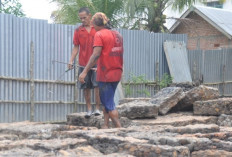
M 92 17 L 93 26 L 97 31 L 94 36 L 93 54 L 79 76 L 79 81 L 84 83 L 88 71 L 97 63 L 97 81 L 104 106 L 102 128 L 109 127 L 109 118 L 116 127 L 121 127 L 114 94 L 123 71 L 123 38 L 117 31 L 108 28 L 108 22 L 104 13 L 96 13 Z

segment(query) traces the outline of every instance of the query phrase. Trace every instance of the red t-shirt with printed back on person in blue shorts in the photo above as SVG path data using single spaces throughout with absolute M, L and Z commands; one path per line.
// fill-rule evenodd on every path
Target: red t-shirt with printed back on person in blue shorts
M 102 29 L 94 36 L 94 47 L 102 47 L 97 63 L 97 81 L 120 81 L 123 68 L 123 38 L 117 32 Z

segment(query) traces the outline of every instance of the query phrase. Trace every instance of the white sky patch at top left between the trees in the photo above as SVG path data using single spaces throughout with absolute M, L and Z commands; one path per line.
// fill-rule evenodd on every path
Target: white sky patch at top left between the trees
M 44 19 L 52 23 L 50 15 L 52 11 L 56 10 L 57 6 L 49 1 L 50 0 L 19 0 L 26 17 Z

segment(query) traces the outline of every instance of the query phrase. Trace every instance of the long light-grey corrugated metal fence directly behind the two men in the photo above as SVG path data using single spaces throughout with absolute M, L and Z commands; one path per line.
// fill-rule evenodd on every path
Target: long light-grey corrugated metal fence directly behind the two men
M 68 113 L 85 111 L 74 70 L 64 73 L 67 65 L 52 62 L 68 62 L 75 28 L 0 14 L 0 122 L 64 121 Z M 187 40 L 186 35 L 118 31 L 124 38 L 124 82 L 130 74 L 155 81 L 169 73 L 163 42 Z

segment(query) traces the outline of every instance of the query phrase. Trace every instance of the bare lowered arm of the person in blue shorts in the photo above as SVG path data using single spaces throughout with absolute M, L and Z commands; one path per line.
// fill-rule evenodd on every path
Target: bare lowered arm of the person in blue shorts
M 101 55 L 102 47 L 94 47 L 93 54 L 91 55 L 88 64 L 86 65 L 85 69 L 79 76 L 79 81 L 81 83 L 85 83 L 85 76 L 87 75 L 88 71 L 97 63 L 98 58 Z

